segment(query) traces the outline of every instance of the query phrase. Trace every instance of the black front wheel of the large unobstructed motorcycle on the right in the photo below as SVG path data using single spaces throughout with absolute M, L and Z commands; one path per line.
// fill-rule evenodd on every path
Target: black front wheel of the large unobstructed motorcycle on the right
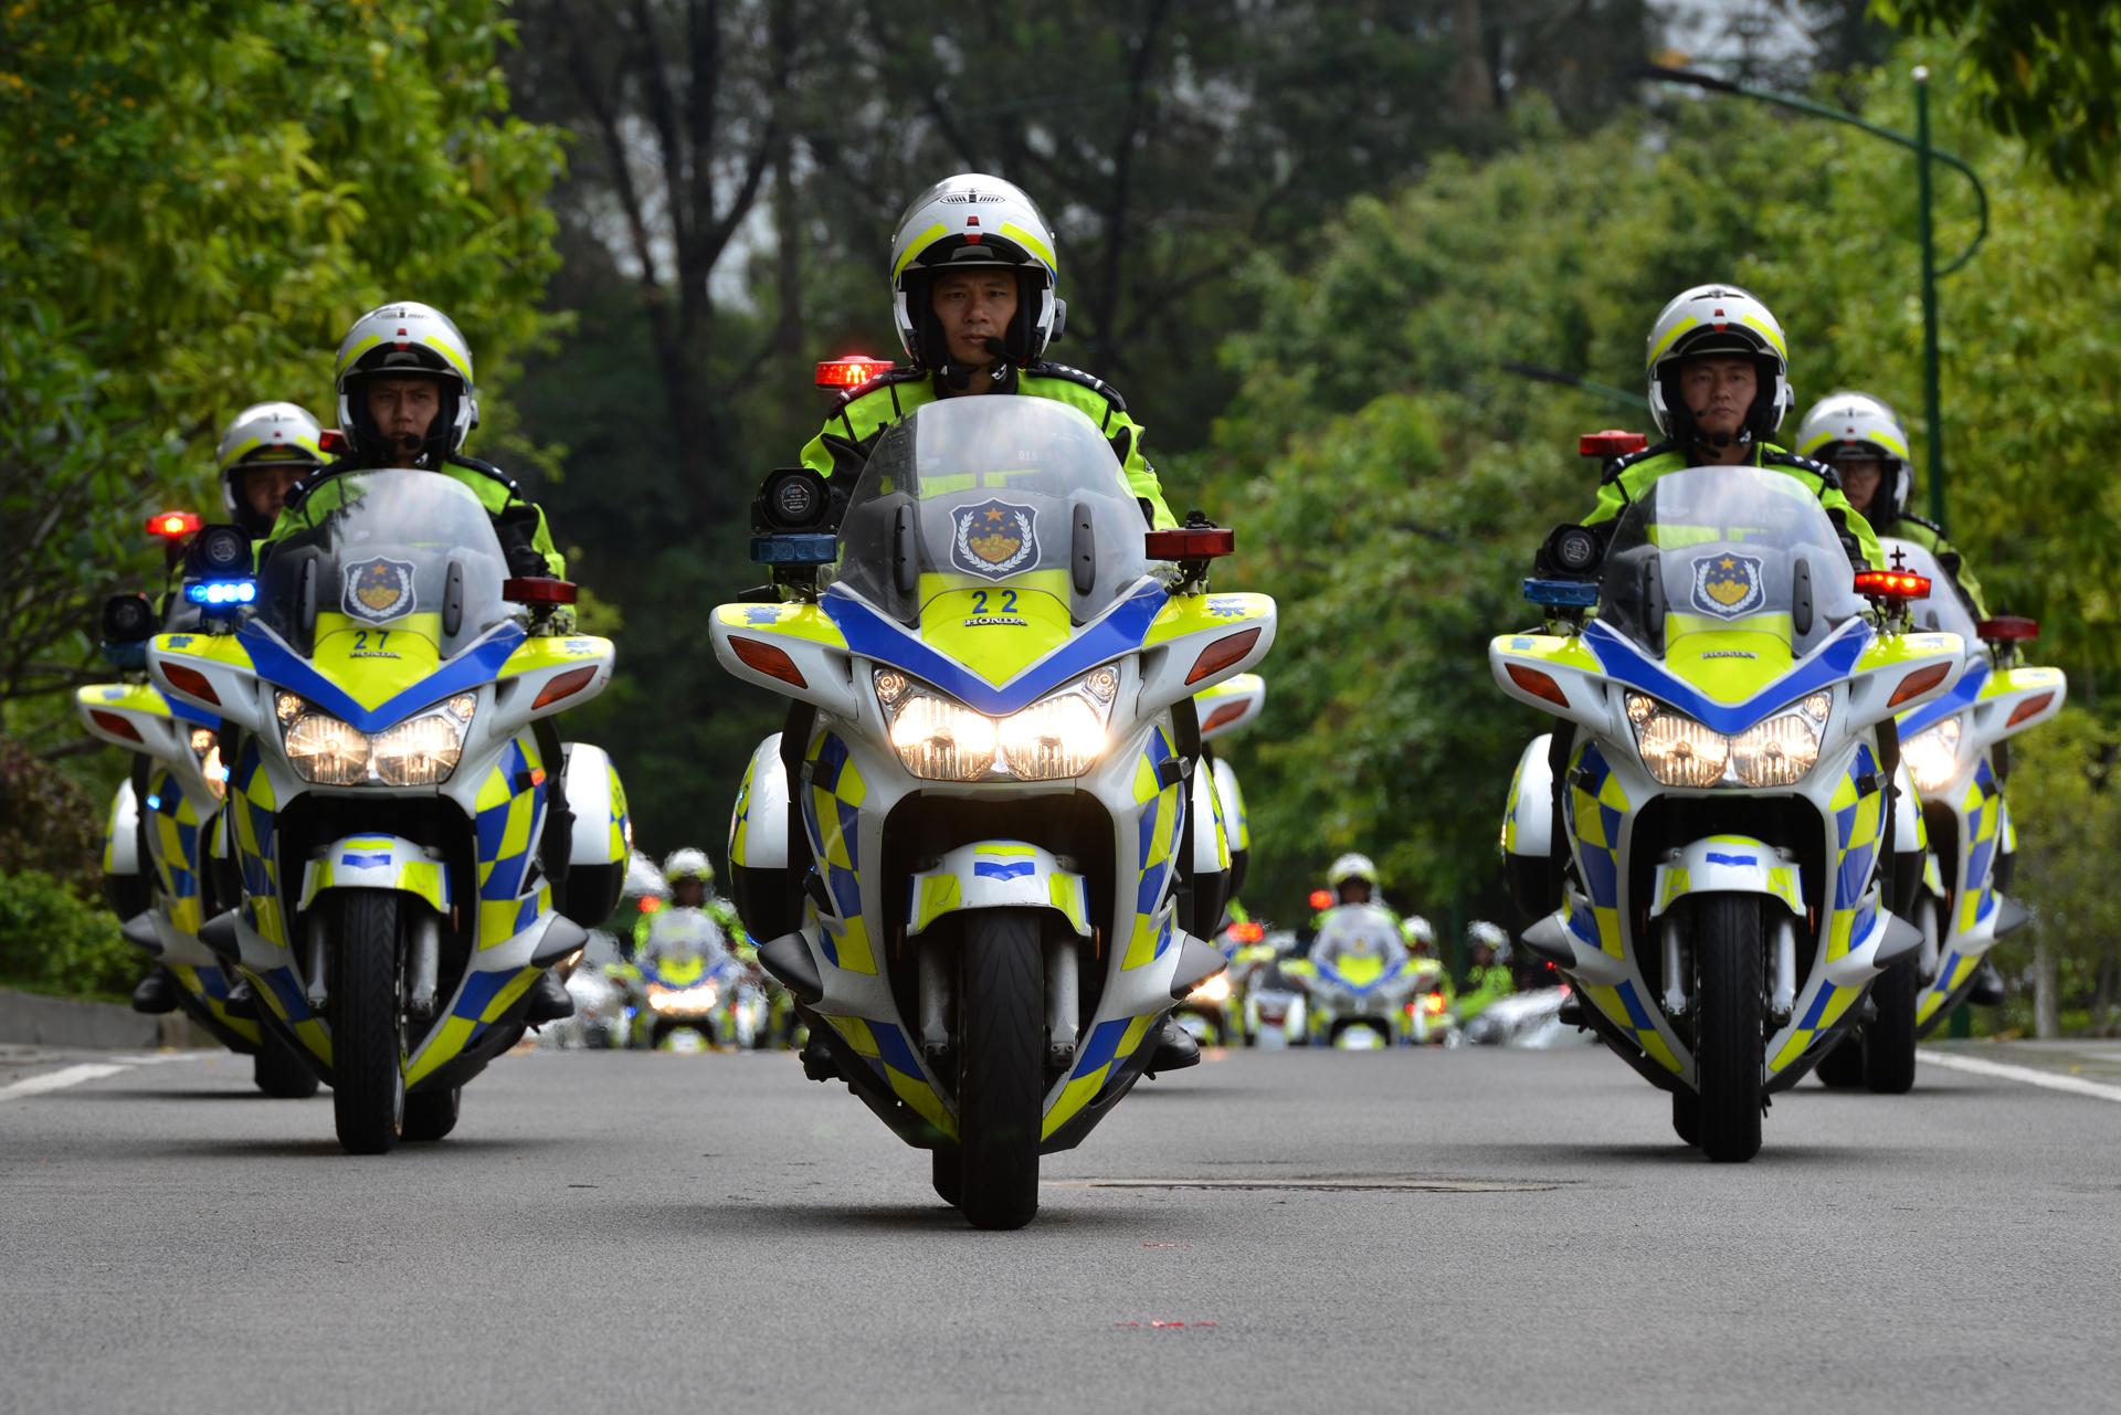
M 1695 1073 L 1701 1086 L 1701 1154 L 1718 1163 L 1760 1152 L 1765 1040 L 1760 895 L 1701 895 L 1695 906 L 1695 976 L 1701 1018 Z

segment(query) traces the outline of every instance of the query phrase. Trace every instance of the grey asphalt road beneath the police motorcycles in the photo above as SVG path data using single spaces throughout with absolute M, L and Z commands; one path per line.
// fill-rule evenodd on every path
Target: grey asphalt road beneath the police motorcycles
M 0 1411 L 2121 1402 L 2121 1105 L 1941 1065 L 1710 1167 L 1601 1050 L 1211 1056 L 971 1233 L 787 1054 L 511 1056 L 386 1158 L 225 1054 L 6 1061 Z

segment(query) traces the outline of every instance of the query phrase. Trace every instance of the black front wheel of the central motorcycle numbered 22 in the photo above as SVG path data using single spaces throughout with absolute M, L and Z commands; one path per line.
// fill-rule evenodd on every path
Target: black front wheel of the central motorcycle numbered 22
M 1037 912 L 993 908 L 965 916 L 957 1035 L 957 1207 L 974 1228 L 1022 1228 L 1039 1211 L 1046 1099 Z

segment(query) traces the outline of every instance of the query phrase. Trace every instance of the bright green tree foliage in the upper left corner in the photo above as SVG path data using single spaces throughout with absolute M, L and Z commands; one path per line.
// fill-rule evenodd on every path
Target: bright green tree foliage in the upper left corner
M 0 518 L 30 528 L 0 566 L 0 704 L 76 681 L 95 598 L 146 571 L 148 509 L 218 507 L 235 409 L 331 422 L 363 308 L 450 310 L 507 384 L 545 325 L 560 168 L 507 112 L 507 40 L 490 0 L 0 13 Z

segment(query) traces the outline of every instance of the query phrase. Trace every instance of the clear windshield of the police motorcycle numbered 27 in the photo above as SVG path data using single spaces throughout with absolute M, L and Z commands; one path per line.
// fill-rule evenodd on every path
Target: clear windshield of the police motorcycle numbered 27
M 405 677 L 481 639 L 518 609 L 494 524 L 477 494 L 433 471 L 352 471 L 282 511 L 295 530 L 259 577 L 259 617 L 303 643 L 316 607 L 314 660 Z M 392 658 L 397 656 L 397 658 Z

